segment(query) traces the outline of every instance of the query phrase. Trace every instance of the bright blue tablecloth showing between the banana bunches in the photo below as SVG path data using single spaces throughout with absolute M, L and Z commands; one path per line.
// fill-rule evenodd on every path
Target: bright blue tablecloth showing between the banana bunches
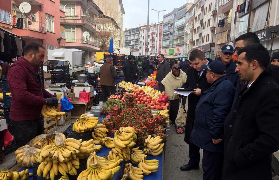
M 102 116 L 99 117 L 99 123 L 102 121 L 102 118 L 103 118 L 103 117 L 105 117 L 105 116 L 102 115 Z M 112 138 L 113 138 L 113 136 L 109 136 L 109 137 L 112 137 Z M 136 147 L 136 146 L 134 146 L 134 147 Z M 97 156 L 101 156 L 101 157 L 102 157 L 102 156 L 107 156 L 110 150 L 111 150 L 111 149 L 109 149 L 109 148 L 107 148 L 107 147 L 105 147 L 105 146 L 102 146 L 102 148 L 100 149 L 100 151 L 98 151 L 98 152 L 96 153 L 96 155 L 97 155 Z M 158 167 L 158 169 L 157 169 L 156 172 L 151 173 L 151 174 L 149 174 L 149 175 L 144 175 L 143 179 L 144 179 L 144 180 L 154 180 L 154 179 L 159 180 L 159 179 L 163 179 L 163 171 L 164 171 L 164 151 L 163 151 L 161 154 L 159 154 L 158 156 L 147 155 L 147 158 L 146 158 L 146 159 L 157 159 L 157 160 L 159 160 L 159 167 Z M 123 176 L 123 174 L 124 174 L 124 173 L 123 173 L 124 165 L 125 165 L 126 163 L 131 163 L 131 162 L 130 162 L 130 161 L 122 161 L 122 162 L 119 164 L 119 165 L 121 166 L 121 168 L 120 168 L 120 170 L 115 174 L 115 176 L 114 176 L 114 178 L 113 178 L 114 180 L 119 180 L 119 179 L 122 178 L 122 176 Z M 132 164 L 132 163 L 131 163 L 131 164 Z M 138 165 L 135 165 L 135 164 L 132 164 L 132 166 L 138 167 Z M 19 172 L 22 171 L 22 170 L 25 170 L 25 169 L 27 169 L 27 168 L 22 168 L 22 169 L 19 170 Z M 29 169 L 29 172 L 30 172 L 30 173 L 33 173 L 33 168 L 30 168 L 30 169 Z M 33 180 L 33 177 L 29 177 L 28 180 Z M 43 180 L 43 179 L 37 177 L 37 180 Z

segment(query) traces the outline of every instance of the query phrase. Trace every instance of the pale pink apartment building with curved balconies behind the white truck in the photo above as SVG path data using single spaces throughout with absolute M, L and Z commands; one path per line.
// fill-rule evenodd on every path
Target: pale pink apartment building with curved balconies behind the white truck
M 94 52 L 100 50 L 100 45 L 94 41 L 94 33 L 100 29 L 94 22 L 94 14 L 102 11 L 93 1 L 60 1 L 65 17 L 60 18 L 60 29 L 65 32 L 65 44 L 62 47 L 85 51 L 85 61 L 93 61 Z M 83 36 L 84 32 L 89 36 Z

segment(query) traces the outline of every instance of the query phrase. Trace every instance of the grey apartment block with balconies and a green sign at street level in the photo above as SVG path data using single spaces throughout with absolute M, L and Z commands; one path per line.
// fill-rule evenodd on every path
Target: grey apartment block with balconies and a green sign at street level
M 182 55 L 184 52 L 184 32 L 186 12 L 193 4 L 187 3 L 164 15 L 162 33 L 162 54 Z

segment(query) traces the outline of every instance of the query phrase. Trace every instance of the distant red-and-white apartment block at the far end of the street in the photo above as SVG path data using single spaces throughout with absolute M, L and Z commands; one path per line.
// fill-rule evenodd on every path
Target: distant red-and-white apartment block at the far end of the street
M 140 31 L 140 55 L 157 56 L 162 53 L 162 29 L 163 22 L 149 25 L 148 48 L 146 46 L 147 26 L 142 26 Z

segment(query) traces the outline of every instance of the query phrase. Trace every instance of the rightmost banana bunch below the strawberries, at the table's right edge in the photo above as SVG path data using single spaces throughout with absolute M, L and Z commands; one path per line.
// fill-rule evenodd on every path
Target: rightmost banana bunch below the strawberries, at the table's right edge
M 160 136 L 153 138 L 149 135 L 147 139 L 145 139 L 145 148 L 143 149 L 144 153 L 151 154 L 152 156 L 158 156 L 163 152 L 164 143 L 161 143 L 162 141 L 163 139 L 160 138 Z

